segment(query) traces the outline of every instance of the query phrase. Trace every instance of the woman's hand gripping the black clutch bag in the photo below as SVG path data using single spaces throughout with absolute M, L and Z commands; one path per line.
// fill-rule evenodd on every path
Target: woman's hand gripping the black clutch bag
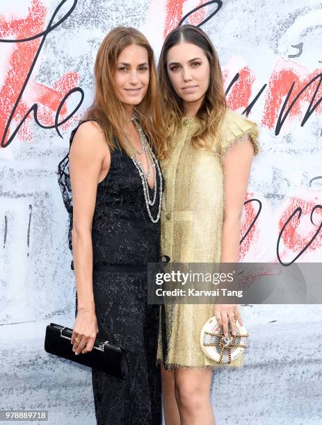
M 95 310 L 78 310 L 71 340 L 75 354 L 92 351 L 97 333 L 98 326 Z

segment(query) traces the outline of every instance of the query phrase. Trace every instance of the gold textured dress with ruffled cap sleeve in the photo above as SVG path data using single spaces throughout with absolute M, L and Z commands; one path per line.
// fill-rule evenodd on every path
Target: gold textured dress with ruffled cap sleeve
M 183 117 L 163 167 L 165 191 L 161 211 L 161 251 L 172 263 L 220 263 L 223 226 L 223 154 L 236 142 L 251 140 L 259 153 L 257 124 L 227 109 L 220 140 L 212 149 L 191 144 L 197 117 Z M 162 164 L 161 164 L 162 165 Z M 200 347 L 202 326 L 214 316 L 214 304 L 166 303 L 167 353 L 163 358 L 160 314 L 157 360 L 172 367 L 218 367 Z M 164 347 L 164 345 L 163 345 Z M 243 356 L 231 366 L 242 366 Z

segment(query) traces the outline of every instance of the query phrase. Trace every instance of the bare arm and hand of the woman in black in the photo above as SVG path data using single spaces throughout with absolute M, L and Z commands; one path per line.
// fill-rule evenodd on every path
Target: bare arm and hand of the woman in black
M 72 248 L 77 285 L 78 314 L 74 334 L 83 335 L 77 353 L 90 351 L 98 332 L 92 291 L 92 217 L 97 183 L 106 155 L 103 133 L 95 122 L 84 122 L 74 135 L 70 149 L 70 181 L 73 198 Z M 110 159 L 109 159 L 110 160 Z M 72 338 L 74 344 L 74 338 Z

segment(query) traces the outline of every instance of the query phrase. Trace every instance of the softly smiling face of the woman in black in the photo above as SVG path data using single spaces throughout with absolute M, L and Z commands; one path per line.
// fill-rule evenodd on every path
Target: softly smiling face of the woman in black
M 118 99 L 129 108 L 138 105 L 149 86 L 147 49 L 136 44 L 125 47 L 118 56 L 114 78 Z

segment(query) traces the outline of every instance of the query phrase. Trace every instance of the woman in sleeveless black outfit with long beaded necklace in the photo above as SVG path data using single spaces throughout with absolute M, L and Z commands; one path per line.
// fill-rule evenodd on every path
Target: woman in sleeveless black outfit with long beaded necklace
M 95 62 L 95 99 L 58 167 L 77 284 L 73 350 L 86 356 L 97 337 L 128 352 L 125 380 L 92 369 L 100 425 L 161 424 L 159 308 L 147 304 L 147 263 L 160 260 L 163 191 L 156 81 L 145 37 L 134 28 L 108 33 Z

